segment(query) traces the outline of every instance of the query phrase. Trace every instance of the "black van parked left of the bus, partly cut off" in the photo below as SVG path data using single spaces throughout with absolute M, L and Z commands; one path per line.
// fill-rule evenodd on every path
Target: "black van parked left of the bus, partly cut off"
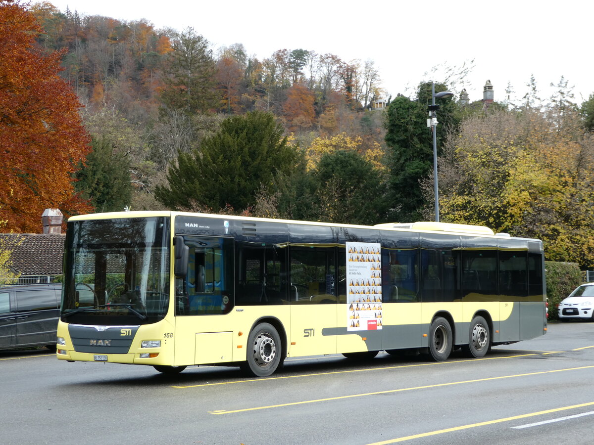
M 62 284 L 0 287 L 0 349 L 56 348 Z

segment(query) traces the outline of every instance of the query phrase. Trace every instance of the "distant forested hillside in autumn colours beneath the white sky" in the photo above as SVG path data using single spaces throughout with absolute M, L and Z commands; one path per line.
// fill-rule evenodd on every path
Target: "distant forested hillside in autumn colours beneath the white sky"
M 241 43 L 211 47 L 199 30 L 156 30 L 146 21 L 86 17 L 48 2 L 30 10 L 44 31 L 39 43 L 67 48 L 61 76 L 85 106 L 93 147 L 110 142 L 131 171 L 133 189 L 123 192 L 132 208 L 159 206 L 153 188 L 169 163 L 199 148 L 226 116 L 273 113 L 293 147 L 336 135 L 362 153 L 377 154 L 383 145 L 381 116 L 364 111 L 382 94 L 372 61 L 312 49 L 279 49 L 260 61 Z M 102 155 L 105 147 L 92 157 Z M 98 210 L 122 208 L 120 199 L 99 198 L 106 193 L 97 189 L 96 174 L 83 176 L 78 189 Z

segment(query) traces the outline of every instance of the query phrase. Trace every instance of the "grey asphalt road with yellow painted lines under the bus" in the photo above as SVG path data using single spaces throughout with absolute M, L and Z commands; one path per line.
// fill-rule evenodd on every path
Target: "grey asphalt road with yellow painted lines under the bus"
M 448 361 L 380 354 L 238 368 L 67 363 L 0 352 L 2 444 L 592 443 L 594 323 Z

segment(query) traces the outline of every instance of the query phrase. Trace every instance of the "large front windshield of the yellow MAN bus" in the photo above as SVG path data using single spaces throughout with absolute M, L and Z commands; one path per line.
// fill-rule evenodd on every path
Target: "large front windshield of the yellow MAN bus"
M 169 305 L 169 222 L 122 218 L 68 223 L 62 320 L 152 323 Z

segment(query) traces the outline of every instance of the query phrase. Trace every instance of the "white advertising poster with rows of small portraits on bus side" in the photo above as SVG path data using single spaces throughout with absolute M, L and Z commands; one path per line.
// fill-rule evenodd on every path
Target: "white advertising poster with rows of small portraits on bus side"
M 381 247 L 346 243 L 347 330 L 381 329 Z

